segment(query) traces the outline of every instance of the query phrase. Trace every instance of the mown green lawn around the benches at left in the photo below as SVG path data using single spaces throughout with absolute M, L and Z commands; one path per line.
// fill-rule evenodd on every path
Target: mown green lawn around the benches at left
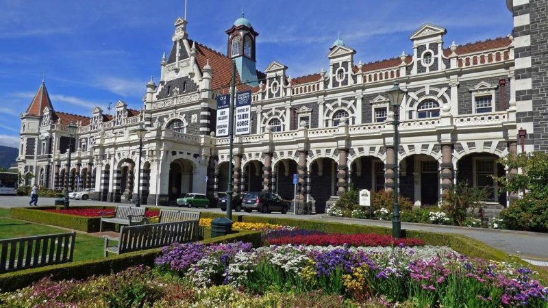
M 10 209 L 0 209 L 0 240 L 24 236 L 65 233 L 66 229 L 34 224 L 10 217 Z M 76 234 L 74 261 L 100 259 L 103 257 L 103 239 L 82 233 Z

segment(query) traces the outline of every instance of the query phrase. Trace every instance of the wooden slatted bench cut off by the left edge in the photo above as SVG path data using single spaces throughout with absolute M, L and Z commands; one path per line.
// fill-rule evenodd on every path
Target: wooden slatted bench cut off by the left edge
M 0 240 L 0 273 L 73 261 L 76 233 Z

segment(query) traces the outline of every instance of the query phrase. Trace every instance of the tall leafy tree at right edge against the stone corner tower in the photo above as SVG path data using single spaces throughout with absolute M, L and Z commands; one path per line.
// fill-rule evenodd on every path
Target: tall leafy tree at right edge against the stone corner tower
M 533 198 L 548 197 L 548 154 L 544 152 L 520 153 L 499 159 L 499 163 L 510 169 L 521 168 L 513 177 L 495 177 L 501 188 L 508 192 L 527 190 Z

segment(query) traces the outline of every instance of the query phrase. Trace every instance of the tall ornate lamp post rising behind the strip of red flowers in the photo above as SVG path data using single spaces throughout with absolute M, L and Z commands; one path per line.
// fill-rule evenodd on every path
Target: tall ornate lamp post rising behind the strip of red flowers
M 398 134 L 398 125 L 399 125 L 399 106 L 403 97 L 406 96 L 406 91 L 399 88 L 398 81 L 394 82 L 394 86 L 390 90 L 386 90 L 388 99 L 390 99 L 390 107 L 394 111 L 394 217 L 392 218 L 392 236 L 393 238 L 401 238 L 401 220 L 399 218 L 399 204 L 398 204 L 398 194 L 399 194 L 399 168 L 398 168 L 398 149 L 399 149 L 399 134 Z

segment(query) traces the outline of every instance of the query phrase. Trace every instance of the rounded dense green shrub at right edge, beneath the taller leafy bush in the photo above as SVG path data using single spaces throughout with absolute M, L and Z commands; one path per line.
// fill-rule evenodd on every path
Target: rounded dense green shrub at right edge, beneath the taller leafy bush
M 548 232 L 548 198 L 536 199 L 526 194 L 503 209 L 499 217 L 506 229 Z

